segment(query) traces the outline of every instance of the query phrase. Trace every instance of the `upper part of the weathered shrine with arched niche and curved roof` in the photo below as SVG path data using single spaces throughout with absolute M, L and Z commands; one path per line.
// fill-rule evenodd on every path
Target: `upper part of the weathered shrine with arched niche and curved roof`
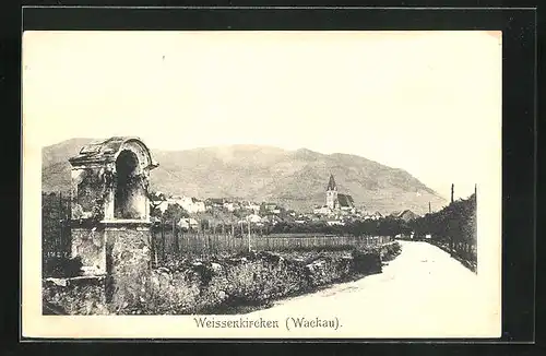
M 73 218 L 149 221 L 150 170 L 157 164 L 138 138 L 92 143 L 70 159 Z M 91 203 L 94 206 L 91 206 Z

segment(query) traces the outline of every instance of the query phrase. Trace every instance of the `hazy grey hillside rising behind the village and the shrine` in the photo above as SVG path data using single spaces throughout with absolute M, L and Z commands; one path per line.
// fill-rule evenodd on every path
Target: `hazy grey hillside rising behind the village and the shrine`
M 68 158 L 91 141 L 73 139 L 43 150 L 43 190 L 70 187 Z M 447 203 L 408 173 L 355 155 L 260 145 L 152 153 L 159 167 L 152 171 L 151 187 L 173 194 L 275 201 L 309 210 L 324 203 L 328 178 L 333 174 L 339 191 L 352 194 L 357 206 L 369 211 L 410 209 L 423 214 L 428 211 L 428 202 L 435 210 Z

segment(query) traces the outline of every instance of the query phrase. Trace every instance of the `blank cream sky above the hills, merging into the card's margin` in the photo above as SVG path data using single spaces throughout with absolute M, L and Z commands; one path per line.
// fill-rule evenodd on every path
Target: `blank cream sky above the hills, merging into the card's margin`
M 465 198 L 500 165 L 501 60 L 500 32 L 25 32 L 23 137 L 356 154 Z

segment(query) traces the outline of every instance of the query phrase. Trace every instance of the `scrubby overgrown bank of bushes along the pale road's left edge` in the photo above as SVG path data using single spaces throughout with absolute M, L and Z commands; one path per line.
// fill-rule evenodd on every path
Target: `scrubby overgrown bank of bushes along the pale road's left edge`
M 127 297 L 110 304 L 109 309 L 119 315 L 238 312 L 331 283 L 380 273 L 381 261 L 399 252 L 400 245 L 394 242 L 365 251 L 240 252 L 207 260 L 186 258 L 141 275 L 130 293 L 126 290 Z

